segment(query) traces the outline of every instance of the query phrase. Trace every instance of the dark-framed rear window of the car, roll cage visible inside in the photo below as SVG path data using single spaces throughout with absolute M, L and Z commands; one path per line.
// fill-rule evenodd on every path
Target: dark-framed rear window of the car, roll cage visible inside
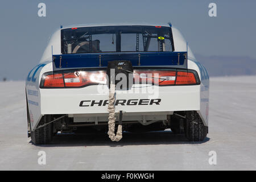
M 73 27 L 61 30 L 61 52 L 171 52 L 172 40 L 171 27 Z

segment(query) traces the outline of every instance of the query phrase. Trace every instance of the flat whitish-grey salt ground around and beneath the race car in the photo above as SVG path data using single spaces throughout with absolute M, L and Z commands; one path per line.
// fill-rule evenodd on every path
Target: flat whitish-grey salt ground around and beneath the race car
M 24 82 L 0 82 L 1 170 L 256 170 L 256 76 L 210 78 L 209 134 L 187 142 L 171 131 L 58 136 L 35 146 L 27 138 Z M 38 152 L 46 152 L 46 165 Z M 209 151 L 217 164 L 209 165 Z

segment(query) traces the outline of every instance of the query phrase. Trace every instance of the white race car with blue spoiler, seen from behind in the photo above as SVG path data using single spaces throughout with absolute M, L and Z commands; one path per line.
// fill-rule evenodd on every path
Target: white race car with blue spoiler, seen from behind
M 34 144 L 58 132 L 208 133 L 207 70 L 171 23 L 61 26 L 28 73 L 26 98 Z

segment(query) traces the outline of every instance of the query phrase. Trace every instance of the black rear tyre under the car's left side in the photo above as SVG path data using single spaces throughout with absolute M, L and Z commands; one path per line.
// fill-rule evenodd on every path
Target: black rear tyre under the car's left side
M 39 122 L 39 126 L 49 121 L 52 121 L 51 115 L 44 115 Z M 31 131 L 31 141 L 34 144 L 48 144 L 52 140 L 52 135 L 52 123 L 50 123 L 49 125 Z

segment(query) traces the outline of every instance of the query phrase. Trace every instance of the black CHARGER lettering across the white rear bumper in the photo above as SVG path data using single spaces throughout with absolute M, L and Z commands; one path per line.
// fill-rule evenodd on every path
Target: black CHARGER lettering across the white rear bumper
M 122 106 L 135 106 L 135 105 L 160 105 L 161 99 L 156 98 L 156 99 L 121 99 L 121 100 L 116 100 L 115 101 L 115 106 L 122 105 Z M 81 101 L 79 106 L 80 107 L 89 107 L 89 106 L 106 106 L 109 104 L 108 100 L 85 100 Z

